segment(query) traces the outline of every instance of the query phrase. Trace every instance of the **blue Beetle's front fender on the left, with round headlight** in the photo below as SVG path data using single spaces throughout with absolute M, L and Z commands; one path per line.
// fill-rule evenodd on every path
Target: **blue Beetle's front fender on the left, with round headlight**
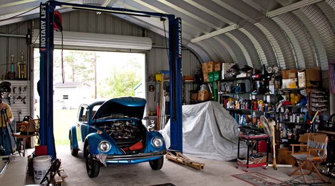
M 98 146 L 99 146 L 100 141 L 102 140 L 106 140 L 111 144 L 111 148 L 106 152 L 101 152 L 99 150 Z M 85 138 L 84 149 L 86 149 L 87 145 L 89 145 L 91 154 L 94 154 L 94 155 L 100 154 L 100 153 L 124 154 L 123 152 L 119 150 L 119 147 L 117 146 L 115 141 L 106 132 L 103 132 L 101 134 L 98 134 L 97 132 L 92 132 L 88 134 Z M 85 150 L 83 150 L 83 158 L 86 156 L 85 153 L 86 153 Z

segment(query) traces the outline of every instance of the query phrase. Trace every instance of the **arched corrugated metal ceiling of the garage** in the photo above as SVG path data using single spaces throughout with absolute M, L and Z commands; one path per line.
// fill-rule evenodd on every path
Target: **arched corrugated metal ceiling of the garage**
M 45 1 L 1 0 L 0 20 L 30 10 Z M 195 52 L 201 62 L 235 62 L 240 67 L 250 65 L 257 68 L 262 64 L 282 68 L 320 65 L 327 70 L 328 62 L 335 60 L 335 0 L 60 1 L 175 14 L 182 18 L 183 45 Z M 308 4 L 302 5 L 305 2 Z M 289 11 L 267 16 L 272 10 L 292 6 L 294 8 Z M 60 9 L 61 12 L 71 10 Z M 37 8 L 0 21 L 0 25 L 38 18 L 38 11 Z M 164 36 L 163 23 L 158 18 L 116 16 Z M 238 28 L 191 42 L 233 24 L 237 24 Z

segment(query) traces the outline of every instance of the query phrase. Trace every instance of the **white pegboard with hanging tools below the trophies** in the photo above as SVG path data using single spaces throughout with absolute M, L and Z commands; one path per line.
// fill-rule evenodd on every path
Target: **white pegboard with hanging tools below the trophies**
M 28 80 L 5 80 L 11 83 L 10 94 L 3 95 L 3 102 L 10 106 L 14 120 L 21 122 L 24 116 L 30 116 L 30 86 Z

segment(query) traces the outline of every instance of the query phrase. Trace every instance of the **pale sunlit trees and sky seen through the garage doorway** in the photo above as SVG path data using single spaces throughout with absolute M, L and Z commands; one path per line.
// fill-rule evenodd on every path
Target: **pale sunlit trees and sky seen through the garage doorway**
M 83 81 L 95 87 L 96 83 L 96 94 L 99 98 L 110 99 L 121 96 L 134 96 L 134 87 L 142 81 L 144 76 L 144 62 L 143 57 L 131 57 L 128 53 L 118 53 L 122 58 L 113 55 L 116 53 L 108 53 L 107 55 L 103 52 L 93 51 L 72 51 L 64 50 L 63 52 L 63 64 L 64 64 L 64 79 L 65 82 L 78 82 Z M 141 54 L 143 55 L 143 54 Z M 106 56 L 108 56 L 106 58 Z M 36 82 L 40 79 L 40 59 L 39 50 L 34 51 L 34 78 Z M 122 60 L 120 60 L 122 59 Z M 126 59 L 126 60 L 125 60 Z M 97 63 L 104 63 L 103 70 L 97 68 Z M 107 65 L 108 63 L 108 65 Z M 109 67 L 112 66 L 112 67 Z M 105 68 L 109 68 L 106 71 Z M 97 77 L 104 73 L 104 79 L 95 82 Z M 54 83 L 63 82 L 62 78 L 62 55 L 61 50 L 54 51 Z M 92 90 L 92 98 L 95 98 Z

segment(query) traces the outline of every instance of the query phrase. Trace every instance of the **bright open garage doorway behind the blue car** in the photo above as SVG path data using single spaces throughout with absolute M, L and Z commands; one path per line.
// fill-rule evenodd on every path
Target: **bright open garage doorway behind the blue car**
M 34 50 L 34 116 L 40 114 L 37 82 L 39 49 Z M 75 124 L 80 104 L 94 100 L 134 96 L 145 98 L 145 54 L 54 51 L 54 136 L 56 145 L 69 144 L 68 130 Z

